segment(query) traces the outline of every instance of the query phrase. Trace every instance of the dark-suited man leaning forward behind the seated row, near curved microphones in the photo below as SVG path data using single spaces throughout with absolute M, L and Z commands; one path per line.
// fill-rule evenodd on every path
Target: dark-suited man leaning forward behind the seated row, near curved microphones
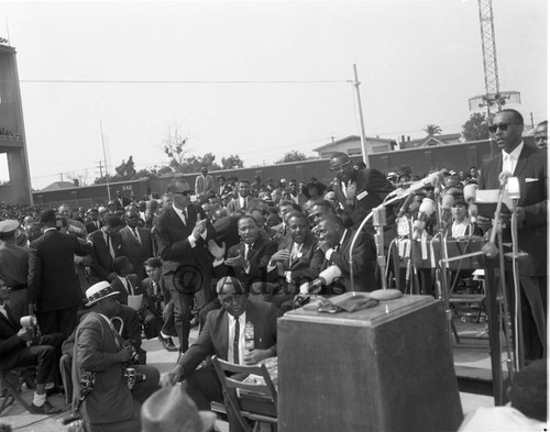
M 334 153 L 329 164 L 330 171 L 336 177 L 334 193 L 340 203 L 338 213 L 345 228 L 358 229 L 363 219 L 382 204 L 395 187 L 375 168 L 354 169 L 345 153 Z M 386 221 L 384 243 L 387 246 L 397 235 L 392 209 L 386 210 Z M 366 222 L 364 230 L 374 235 L 372 220 Z

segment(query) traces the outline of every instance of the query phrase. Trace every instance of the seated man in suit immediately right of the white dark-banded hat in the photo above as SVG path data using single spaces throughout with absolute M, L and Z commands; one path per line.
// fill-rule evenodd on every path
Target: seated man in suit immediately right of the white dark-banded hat
M 138 275 L 132 274 L 132 263 L 130 263 L 128 257 L 119 256 L 114 258 L 112 269 L 117 274 L 117 278 L 111 283 L 111 287 L 113 290 L 119 291 L 119 301 L 122 304 L 128 306 L 129 296 L 143 296 L 142 302 L 136 311 L 140 315 L 141 322 L 143 323 L 145 337 L 156 337 L 163 324 L 161 319 L 155 315 L 151 306 L 151 300 L 147 297 L 147 292 L 142 289 L 141 280 Z

